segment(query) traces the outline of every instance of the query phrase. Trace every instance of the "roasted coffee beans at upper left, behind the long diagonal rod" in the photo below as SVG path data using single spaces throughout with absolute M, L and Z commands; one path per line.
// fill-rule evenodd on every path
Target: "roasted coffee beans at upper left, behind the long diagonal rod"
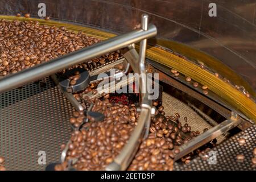
M 100 39 L 65 27 L 39 24 L 37 21 L 0 20 L 0 77 L 49 61 L 100 42 Z M 92 70 L 118 59 L 119 51 L 108 53 L 72 68 Z

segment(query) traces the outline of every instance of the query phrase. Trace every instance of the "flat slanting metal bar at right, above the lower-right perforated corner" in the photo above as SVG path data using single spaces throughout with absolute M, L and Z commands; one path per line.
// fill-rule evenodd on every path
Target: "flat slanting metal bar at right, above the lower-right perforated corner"
M 175 155 L 174 160 L 179 160 L 183 156 L 210 142 L 214 138 L 217 138 L 221 134 L 240 125 L 241 122 L 242 119 L 239 118 L 237 114 L 232 113 L 232 117 L 230 117 L 229 119 L 225 120 L 217 126 L 212 127 L 211 129 L 207 130 L 205 133 L 199 135 L 198 137 L 189 140 L 188 143 L 184 143 L 182 146 L 180 146 L 180 152 L 179 154 Z

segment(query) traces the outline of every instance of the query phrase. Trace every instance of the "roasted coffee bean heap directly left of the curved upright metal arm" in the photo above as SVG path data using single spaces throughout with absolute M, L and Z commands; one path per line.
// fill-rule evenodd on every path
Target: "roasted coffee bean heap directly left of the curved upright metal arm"
M 126 144 L 139 117 L 135 106 L 113 105 L 108 99 L 92 101 L 92 111 L 104 114 L 105 119 L 85 123 L 80 131 L 72 134 L 67 160 L 77 158 L 73 167 L 79 170 L 105 169 Z M 79 118 L 81 115 L 77 114 L 72 122 L 78 122 Z M 65 167 L 67 163 L 59 164 L 55 169 L 63 170 Z

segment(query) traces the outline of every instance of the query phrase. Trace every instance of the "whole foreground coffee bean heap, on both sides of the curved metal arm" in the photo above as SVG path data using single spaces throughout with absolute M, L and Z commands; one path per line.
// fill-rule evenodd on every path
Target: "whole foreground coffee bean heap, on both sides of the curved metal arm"
M 78 159 L 73 165 L 78 170 L 103 170 L 122 150 L 137 125 L 139 113 L 134 104 L 113 104 L 109 97 L 109 94 L 105 94 L 102 100 L 85 98 L 86 102 L 94 104 L 92 111 L 104 114 L 105 119 L 93 122 L 90 118 L 81 130 L 73 132 L 66 162 L 58 164 L 56 170 L 66 169 L 68 160 L 72 158 Z M 154 106 L 157 107 L 158 103 L 154 102 Z M 155 117 L 151 118 L 150 134 L 142 141 L 128 170 L 172 170 L 179 146 L 199 135 L 199 131 L 191 131 L 191 127 L 185 123 L 187 118 L 184 118 L 185 124 L 182 126 L 178 113 L 165 117 L 163 110 L 164 107 L 159 106 Z M 85 116 L 83 112 L 74 112 L 73 115 L 70 122 L 77 127 Z M 186 156 L 182 160 L 189 163 L 190 158 Z

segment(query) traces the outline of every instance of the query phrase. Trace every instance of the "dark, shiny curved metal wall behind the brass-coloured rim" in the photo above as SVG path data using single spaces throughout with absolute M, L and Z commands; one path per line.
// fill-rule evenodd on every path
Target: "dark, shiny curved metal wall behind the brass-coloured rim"
M 158 38 L 175 40 L 221 60 L 256 89 L 256 1 L 207 0 L 1 0 L 0 14 L 30 13 L 37 17 L 38 4 L 47 15 L 117 33 L 138 26 L 140 15 L 150 15 Z M 217 16 L 208 15 L 209 3 Z

